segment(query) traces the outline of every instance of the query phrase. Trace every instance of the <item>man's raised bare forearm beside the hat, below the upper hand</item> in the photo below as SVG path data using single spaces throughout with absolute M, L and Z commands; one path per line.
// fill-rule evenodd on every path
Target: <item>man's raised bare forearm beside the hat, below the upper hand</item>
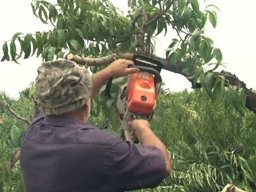
M 92 93 L 91 100 L 94 95 L 99 91 L 103 83 L 105 83 L 109 78 L 111 78 L 111 73 L 107 69 L 102 69 L 96 74 L 92 75 Z

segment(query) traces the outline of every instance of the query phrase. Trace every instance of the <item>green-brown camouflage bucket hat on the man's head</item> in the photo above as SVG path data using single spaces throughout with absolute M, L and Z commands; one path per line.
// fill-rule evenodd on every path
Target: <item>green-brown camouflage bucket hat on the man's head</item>
M 36 94 L 46 115 L 59 115 L 82 107 L 90 98 L 92 80 L 74 61 L 43 62 L 37 69 Z

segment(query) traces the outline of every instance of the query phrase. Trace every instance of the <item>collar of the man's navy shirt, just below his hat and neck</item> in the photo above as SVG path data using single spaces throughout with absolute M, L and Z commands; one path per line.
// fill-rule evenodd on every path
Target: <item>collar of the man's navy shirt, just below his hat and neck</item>
M 46 115 L 42 123 L 44 125 L 51 126 L 76 126 L 86 127 L 88 129 L 97 129 L 97 127 L 91 125 L 90 123 L 64 115 Z

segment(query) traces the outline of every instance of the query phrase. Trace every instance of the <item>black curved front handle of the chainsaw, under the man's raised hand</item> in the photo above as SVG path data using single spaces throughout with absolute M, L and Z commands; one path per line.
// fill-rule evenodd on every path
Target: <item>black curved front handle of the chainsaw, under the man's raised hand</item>
M 130 65 L 130 66 L 128 66 L 128 68 L 133 68 L 133 67 L 139 68 L 141 72 L 147 72 L 147 73 L 153 74 L 154 75 L 155 85 L 157 83 L 161 83 L 162 82 L 162 77 L 161 77 L 160 73 L 156 69 L 153 69 L 153 68 L 150 68 L 150 67 L 137 66 L 137 65 Z M 109 98 L 111 98 L 110 89 L 111 89 L 111 85 L 112 85 L 113 79 L 114 79 L 113 77 L 108 79 L 108 82 L 107 82 L 106 88 L 105 88 L 105 94 Z

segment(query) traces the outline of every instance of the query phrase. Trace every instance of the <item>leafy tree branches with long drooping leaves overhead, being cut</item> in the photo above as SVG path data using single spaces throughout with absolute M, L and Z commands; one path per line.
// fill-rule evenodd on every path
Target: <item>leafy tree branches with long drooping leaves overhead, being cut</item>
M 254 92 L 234 75 L 215 72 L 223 65 L 222 53 L 205 36 L 204 27 L 206 22 L 217 26 L 218 7 L 207 5 L 202 9 L 197 0 L 126 3 L 127 15 L 108 0 L 58 0 L 56 4 L 32 1 L 34 15 L 43 23 L 51 23 L 53 29 L 14 34 L 10 43 L 3 44 L 1 61 L 18 62 L 34 54 L 47 61 L 67 58 L 71 53 L 84 57 L 72 58 L 96 73 L 114 59 L 131 59 L 134 53 L 142 53 L 161 60 L 164 69 L 182 74 L 193 87 L 203 87 L 214 100 L 227 101 L 227 106 L 234 105 L 237 110 L 246 105 L 256 111 Z M 161 33 L 169 36 L 170 31 L 177 37 L 169 39 L 166 58 L 159 58 L 155 55 L 155 38 Z

